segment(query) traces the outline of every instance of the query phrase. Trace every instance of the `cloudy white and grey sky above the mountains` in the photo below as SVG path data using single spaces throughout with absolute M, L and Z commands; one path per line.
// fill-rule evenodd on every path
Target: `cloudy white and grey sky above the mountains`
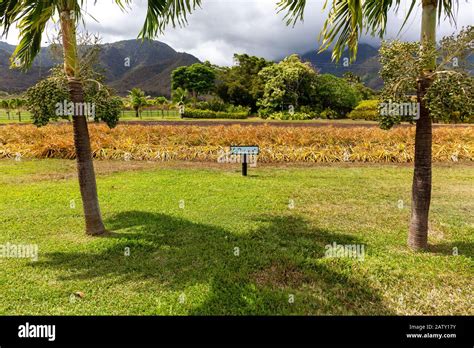
M 318 33 L 326 14 L 322 12 L 323 0 L 307 0 L 304 22 L 287 27 L 283 14 L 277 14 L 277 0 L 202 0 L 188 18 L 184 28 L 169 28 L 157 39 L 178 51 L 191 53 L 201 60 L 214 64 L 230 65 L 235 52 L 278 59 L 290 53 L 305 53 L 318 47 Z M 408 3 L 408 0 L 406 0 Z M 420 1 L 421 2 L 421 1 Z M 113 0 L 99 0 L 96 5 L 89 1 L 86 17 L 87 30 L 99 33 L 102 42 L 114 42 L 136 38 L 145 18 L 146 0 L 138 0 L 122 12 Z M 398 14 L 391 13 L 387 38 L 396 38 L 403 22 L 407 5 L 401 6 Z M 416 8 L 403 31 L 402 40 L 417 40 L 421 9 Z M 95 19 L 93 19 L 93 18 Z M 460 0 L 457 28 L 474 24 L 474 0 Z M 49 30 L 53 31 L 51 24 Z M 441 22 L 438 36 L 457 31 L 448 21 Z M 17 32 L 12 31 L 7 40 L 18 41 Z M 45 38 L 43 41 L 46 41 Z M 369 36 L 363 42 L 378 44 Z

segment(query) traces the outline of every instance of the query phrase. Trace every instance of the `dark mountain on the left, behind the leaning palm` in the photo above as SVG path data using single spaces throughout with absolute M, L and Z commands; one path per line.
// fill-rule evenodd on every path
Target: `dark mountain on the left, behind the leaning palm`
M 22 92 L 49 74 L 61 62 L 54 59 L 50 47 L 42 48 L 28 72 L 10 69 L 9 57 L 15 46 L 0 42 L 0 91 Z M 175 51 L 159 41 L 126 40 L 100 45 L 100 70 L 106 83 L 125 95 L 140 87 L 150 95 L 170 95 L 171 72 L 199 59 Z

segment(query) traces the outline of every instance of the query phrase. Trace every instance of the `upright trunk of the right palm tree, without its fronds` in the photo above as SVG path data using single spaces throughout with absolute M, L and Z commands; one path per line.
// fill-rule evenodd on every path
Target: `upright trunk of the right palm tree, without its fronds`
M 422 0 L 421 54 L 429 52 L 436 45 L 437 0 Z M 428 247 L 428 216 L 431 203 L 431 143 L 432 122 L 424 96 L 432 83 L 430 73 L 436 66 L 433 59 L 418 79 L 417 99 L 420 118 L 416 122 L 415 169 L 412 185 L 411 222 L 408 245 L 414 250 Z

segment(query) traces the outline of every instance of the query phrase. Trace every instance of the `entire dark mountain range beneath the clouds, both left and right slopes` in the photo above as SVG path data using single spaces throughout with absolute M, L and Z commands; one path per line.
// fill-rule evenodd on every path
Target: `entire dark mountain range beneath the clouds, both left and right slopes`
M 171 72 L 179 66 L 199 62 L 199 59 L 188 53 L 177 52 L 160 41 L 125 40 L 100 45 L 100 66 L 106 77 L 106 83 L 118 94 L 126 95 L 133 87 L 143 89 L 149 95 L 170 95 Z M 15 46 L 0 41 L 0 91 L 17 93 L 34 85 L 49 74 L 51 67 L 60 64 L 55 60 L 51 47 L 41 49 L 33 66 L 28 72 L 9 68 L 9 58 Z M 357 61 L 349 67 L 343 62 L 334 64 L 331 52 L 317 54 L 316 51 L 301 54 L 321 73 L 342 76 L 352 71 L 372 88 L 380 88 L 378 77 L 378 49 L 361 44 Z

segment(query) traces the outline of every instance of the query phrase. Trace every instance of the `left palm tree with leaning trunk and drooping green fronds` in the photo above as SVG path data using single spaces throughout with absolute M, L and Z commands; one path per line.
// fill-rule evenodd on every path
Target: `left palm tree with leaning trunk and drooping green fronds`
M 115 0 L 122 9 L 131 2 Z M 199 4 L 200 0 L 148 0 L 146 19 L 139 36 L 143 39 L 152 38 L 170 23 L 173 26 L 185 23 L 186 14 Z M 85 0 L 0 0 L 0 27 L 3 28 L 3 35 L 7 35 L 14 24 L 20 30 L 20 43 L 11 57 L 14 62 L 12 65 L 24 70 L 31 67 L 40 50 L 46 24 L 52 19 L 59 19 L 64 72 L 73 103 L 84 102 L 83 84 L 79 78 L 76 26 L 82 18 L 85 5 Z M 100 235 L 106 230 L 100 213 L 85 115 L 73 117 L 73 129 L 86 233 Z

